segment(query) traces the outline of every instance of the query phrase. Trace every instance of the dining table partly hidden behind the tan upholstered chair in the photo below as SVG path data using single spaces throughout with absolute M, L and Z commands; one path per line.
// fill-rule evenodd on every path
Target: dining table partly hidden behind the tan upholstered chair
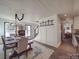
M 12 44 L 15 44 L 15 46 L 11 47 L 11 48 L 15 48 L 17 47 L 17 42 L 19 41 L 19 37 L 16 37 L 16 38 L 11 38 L 11 37 L 7 37 L 5 38 L 5 44 L 6 45 L 12 45 Z M 29 40 L 28 39 L 28 46 L 27 49 L 30 50 L 32 49 L 31 47 L 31 44 L 33 43 L 33 40 Z

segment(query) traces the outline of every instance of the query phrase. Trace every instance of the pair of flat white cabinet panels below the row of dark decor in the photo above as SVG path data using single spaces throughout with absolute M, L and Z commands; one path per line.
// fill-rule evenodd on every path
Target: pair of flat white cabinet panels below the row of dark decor
M 48 44 L 51 46 L 55 46 L 57 44 L 57 32 L 54 25 L 40 27 L 40 42 L 44 44 Z

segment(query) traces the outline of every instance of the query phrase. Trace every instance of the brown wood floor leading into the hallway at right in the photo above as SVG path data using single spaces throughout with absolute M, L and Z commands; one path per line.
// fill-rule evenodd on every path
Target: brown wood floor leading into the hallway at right
M 64 39 L 59 48 L 51 55 L 49 59 L 70 59 L 70 56 L 76 53 L 70 39 Z M 74 59 L 75 57 L 72 57 Z

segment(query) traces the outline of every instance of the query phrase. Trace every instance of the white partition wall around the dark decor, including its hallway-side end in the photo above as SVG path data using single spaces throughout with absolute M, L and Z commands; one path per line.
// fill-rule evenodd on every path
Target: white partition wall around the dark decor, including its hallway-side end
M 57 15 L 50 16 L 41 20 L 54 20 L 54 25 L 44 26 L 39 28 L 39 34 L 35 38 L 36 41 L 41 43 L 58 47 L 61 43 L 61 27 L 60 21 Z

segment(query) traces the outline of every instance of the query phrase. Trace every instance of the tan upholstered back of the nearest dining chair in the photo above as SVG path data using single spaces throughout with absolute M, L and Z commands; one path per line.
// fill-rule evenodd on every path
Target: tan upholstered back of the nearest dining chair
M 21 53 L 23 51 L 27 50 L 28 40 L 25 37 L 21 37 L 19 41 L 17 42 L 17 47 L 15 48 L 15 51 L 17 53 Z

